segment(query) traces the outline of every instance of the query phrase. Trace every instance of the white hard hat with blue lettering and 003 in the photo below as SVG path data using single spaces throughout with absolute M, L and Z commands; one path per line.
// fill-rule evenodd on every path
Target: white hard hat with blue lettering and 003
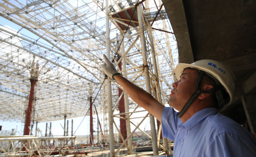
M 192 64 L 180 63 L 175 68 L 176 79 L 180 79 L 180 75 L 185 68 L 199 69 L 206 72 L 206 74 L 210 74 L 209 76 L 214 77 L 214 80 L 217 79 L 230 98 L 229 101 L 225 102 L 223 105 L 228 105 L 232 102 L 235 89 L 235 76 L 228 66 L 219 61 L 210 59 L 198 60 Z

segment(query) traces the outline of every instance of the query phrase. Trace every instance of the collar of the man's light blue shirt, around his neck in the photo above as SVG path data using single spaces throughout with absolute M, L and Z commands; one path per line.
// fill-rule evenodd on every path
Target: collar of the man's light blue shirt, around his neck
M 203 110 L 198 111 L 192 117 L 190 117 L 183 125 L 190 131 L 195 126 L 195 124 L 200 122 L 202 119 L 217 113 L 218 110 L 216 108 L 204 108 Z

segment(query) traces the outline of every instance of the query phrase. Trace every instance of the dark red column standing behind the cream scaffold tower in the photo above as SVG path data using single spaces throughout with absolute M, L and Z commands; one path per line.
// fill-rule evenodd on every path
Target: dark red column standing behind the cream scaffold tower
M 118 57 L 118 60 L 120 57 Z M 120 70 L 122 70 L 122 62 L 118 64 Z M 122 94 L 122 89 L 118 88 L 118 96 Z M 124 95 L 122 95 L 120 101 L 119 101 L 119 113 L 124 113 L 125 112 L 125 107 L 124 107 Z M 120 117 L 124 117 L 125 115 L 120 115 Z M 124 137 L 124 140 L 127 138 L 127 129 L 126 129 L 126 120 L 125 119 L 120 119 L 120 132 L 122 134 L 122 137 Z M 122 139 L 120 139 L 120 142 L 122 143 Z

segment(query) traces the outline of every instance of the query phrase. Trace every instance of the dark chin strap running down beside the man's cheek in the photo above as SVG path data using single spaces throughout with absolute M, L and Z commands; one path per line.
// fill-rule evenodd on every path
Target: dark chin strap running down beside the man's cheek
M 180 111 L 180 113 L 178 114 L 178 117 L 180 118 L 185 112 L 186 110 L 189 108 L 189 106 L 192 104 L 192 102 L 197 98 L 197 96 L 201 93 L 200 89 L 198 89 L 198 85 L 202 79 L 204 75 L 204 72 L 199 71 L 198 73 L 198 77 L 197 77 L 197 83 L 196 83 L 196 88 L 197 90 L 195 91 L 195 93 L 190 97 L 190 99 L 187 101 L 187 103 L 185 104 L 185 106 L 182 108 L 182 110 Z

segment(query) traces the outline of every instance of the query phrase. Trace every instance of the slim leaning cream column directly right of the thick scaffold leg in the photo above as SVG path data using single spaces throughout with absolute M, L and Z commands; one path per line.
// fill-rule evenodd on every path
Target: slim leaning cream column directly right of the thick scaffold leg
M 149 13 L 150 11 L 149 11 L 148 1 L 145 2 L 145 6 L 146 6 L 146 13 Z M 149 41 L 151 44 L 151 50 L 152 50 L 151 54 L 152 54 L 154 74 L 156 76 L 156 95 L 157 95 L 158 102 L 163 104 L 162 97 L 161 97 L 160 84 L 159 84 L 158 67 L 157 67 L 157 63 L 156 63 L 156 51 L 155 51 L 154 39 L 153 39 L 153 35 L 152 35 L 152 27 L 150 25 L 150 22 L 147 23 L 147 29 L 148 29 L 148 37 L 149 37 Z M 158 130 L 159 130 L 159 124 L 160 124 L 160 122 L 158 121 Z M 163 146 L 164 146 L 163 150 L 165 151 L 165 153 L 168 153 L 167 152 L 167 149 L 168 149 L 167 139 L 165 139 L 165 138 L 163 139 Z

